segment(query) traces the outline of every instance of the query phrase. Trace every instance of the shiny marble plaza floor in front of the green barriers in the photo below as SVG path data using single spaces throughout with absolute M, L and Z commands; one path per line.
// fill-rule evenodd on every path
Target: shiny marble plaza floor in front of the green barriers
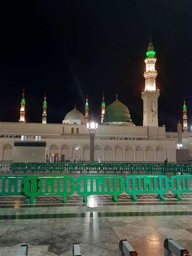
M 76 175 L 73 175 L 74 177 Z M 77 176 L 76 176 L 77 177 Z M 76 178 L 75 177 L 75 178 Z M 179 201 L 156 195 L 38 197 L 35 205 L 24 197 L 0 197 L 0 255 L 15 256 L 22 243 L 29 256 L 73 255 L 80 243 L 82 256 L 119 255 L 119 240 L 127 239 L 139 256 L 164 255 L 163 242 L 172 238 L 192 253 L 192 194 Z

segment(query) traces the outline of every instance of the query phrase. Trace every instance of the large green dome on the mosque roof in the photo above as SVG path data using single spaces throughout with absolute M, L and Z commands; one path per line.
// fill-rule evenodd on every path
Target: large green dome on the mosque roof
M 103 123 L 111 122 L 132 123 L 128 107 L 118 99 L 105 109 Z

